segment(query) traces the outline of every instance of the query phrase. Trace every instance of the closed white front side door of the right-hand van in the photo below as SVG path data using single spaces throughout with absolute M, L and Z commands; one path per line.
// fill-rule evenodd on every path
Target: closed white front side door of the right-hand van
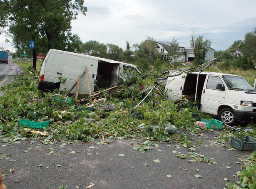
M 220 76 L 208 75 L 201 96 L 201 111 L 217 115 L 217 108 L 224 103 L 226 88 Z

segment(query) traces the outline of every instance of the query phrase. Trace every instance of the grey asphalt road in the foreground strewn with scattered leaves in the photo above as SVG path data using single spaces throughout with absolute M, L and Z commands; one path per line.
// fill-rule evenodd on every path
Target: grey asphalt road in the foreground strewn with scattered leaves
M 132 149 L 138 145 L 136 140 L 45 145 L 31 138 L 12 145 L 0 142 L 0 168 L 7 189 L 85 189 L 91 184 L 92 189 L 223 189 L 226 182 L 237 181 L 234 175 L 252 151 L 216 144 L 214 137 L 221 131 L 202 132 L 204 136 L 185 133 L 194 139 L 197 154 L 217 164 L 176 157 L 189 153 L 176 143 L 161 142 L 142 153 Z M 206 146 L 198 145 L 198 140 Z

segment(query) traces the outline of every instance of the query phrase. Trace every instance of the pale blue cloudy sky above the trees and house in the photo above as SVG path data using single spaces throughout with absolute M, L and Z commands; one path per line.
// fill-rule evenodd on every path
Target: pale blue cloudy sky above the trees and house
M 213 49 L 226 50 L 256 27 L 255 0 L 85 0 L 84 6 L 86 16 L 72 20 L 72 33 L 83 43 L 95 40 L 123 50 L 127 41 L 132 47 L 147 37 L 175 38 L 189 47 L 192 33 L 210 39 Z M 0 46 L 12 51 L 5 38 L 0 35 Z

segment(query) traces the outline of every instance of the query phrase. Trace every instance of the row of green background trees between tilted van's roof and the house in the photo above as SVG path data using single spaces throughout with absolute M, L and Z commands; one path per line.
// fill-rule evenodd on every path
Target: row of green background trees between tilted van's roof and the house
M 147 37 L 141 44 L 134 44 L 134 51 L 129 49 L 123 50 L 115 44 L 103 44 L 90 40 L 80 45 L 80 52 L 91 56 L 97 56 L 115 61 L 135 64 L 142 71 L 157 69 L 158 71 L 166 70 L 168 62 L 163 61 L 163 54 L 156 49 L 156 41 Z

